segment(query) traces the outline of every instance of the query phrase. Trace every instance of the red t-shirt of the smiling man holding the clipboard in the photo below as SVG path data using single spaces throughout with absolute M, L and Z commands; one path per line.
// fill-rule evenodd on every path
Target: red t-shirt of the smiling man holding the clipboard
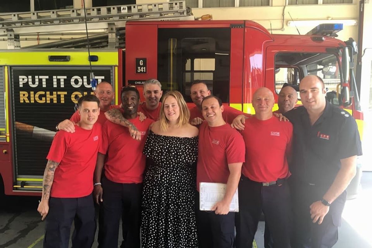
M 228 164 L 244 162 L 244 140 L 229 124 L 210 127 L 203 122 L 199 127 L 196 187 L 206 183 L 227 183 Z

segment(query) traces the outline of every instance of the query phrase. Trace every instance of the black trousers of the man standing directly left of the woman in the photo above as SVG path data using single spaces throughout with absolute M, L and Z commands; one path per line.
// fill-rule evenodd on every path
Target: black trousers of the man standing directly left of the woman
M 115 183 L 102 178 L 103 202 L 99 213 L 98 247 L 118 247 L 122 218 L 121 248 L 140 248 L 142 183 Z

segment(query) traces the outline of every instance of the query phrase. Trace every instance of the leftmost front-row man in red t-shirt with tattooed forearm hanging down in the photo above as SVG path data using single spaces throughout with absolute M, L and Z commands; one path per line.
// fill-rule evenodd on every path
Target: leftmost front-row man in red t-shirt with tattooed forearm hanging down
M 47 156 L 38 207 L 42 220 L 47 221 L 44 237 L 47 248 L 68 247 L 73 221 L 73 247 L 92 247 L 96 232 L 92 191 L 101 141 L 101 125 L 96 123 L 99 100 L 93 95 L 81 97 L 78 108 L 81 118 L 75 133 L 57 132 Z

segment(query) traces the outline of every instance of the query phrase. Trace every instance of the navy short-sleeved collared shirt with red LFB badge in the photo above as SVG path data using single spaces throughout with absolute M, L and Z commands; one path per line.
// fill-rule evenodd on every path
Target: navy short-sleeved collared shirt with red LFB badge
M 295 183 L 317 186 L 325 194 L 341 168 L 340 160 L 362 155 L 355 119 L 345 110 L 326 103 L 311 126 L 304 106 L 285 113 L 293 124 L 293 152 L 289 169 Z

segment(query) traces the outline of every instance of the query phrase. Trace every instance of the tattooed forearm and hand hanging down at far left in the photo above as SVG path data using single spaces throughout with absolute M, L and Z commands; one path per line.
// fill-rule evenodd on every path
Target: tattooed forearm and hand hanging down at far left
M 55 168 L 57 168 L 58 164 L 58 162 L 48 160 L 47 166 L 45 167 L 43 178 L 43 193 L 41 196 L 41 202 L 39 203 L 38 207 L 38 212 L 41 215 L 41 220 L 44 220 L 49 212 L 50 190 L 53 184 L 54 171 Z

